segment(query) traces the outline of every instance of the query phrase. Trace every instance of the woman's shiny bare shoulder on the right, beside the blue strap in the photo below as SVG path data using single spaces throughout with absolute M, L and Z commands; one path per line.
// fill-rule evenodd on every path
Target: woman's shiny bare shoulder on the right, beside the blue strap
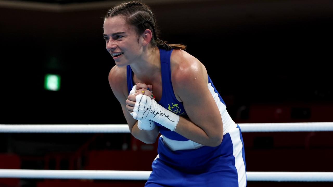
M 175 90 L 190 88 L 202 83 L 207 86 L 208 77 L 204 65 L 195 57 L 183 50 L 173 50 L 171 53 L 171 79 Z

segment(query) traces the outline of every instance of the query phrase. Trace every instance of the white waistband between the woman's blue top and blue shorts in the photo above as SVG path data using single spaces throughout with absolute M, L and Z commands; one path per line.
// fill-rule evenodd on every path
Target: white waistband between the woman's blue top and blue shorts
M 224 111 L 221 113 L 221 118 L 222 118 L 222 123 L 223 123 L 223 135 L 228 133 L 231 129 L 237 127 L 236 123 L 231 119 L 231 117 L 226 109 L 224 109 Z M 197 148 L 200 148 L 203 146 L 202 144 L 196 143 L 192 140 L 178 141 L 178 140 L 173 140 L 173 139 L 167 138 L 163 135 L 161 135 L 161 137 L 163 138 L 164 144 L 171 151 L 197 149 Z

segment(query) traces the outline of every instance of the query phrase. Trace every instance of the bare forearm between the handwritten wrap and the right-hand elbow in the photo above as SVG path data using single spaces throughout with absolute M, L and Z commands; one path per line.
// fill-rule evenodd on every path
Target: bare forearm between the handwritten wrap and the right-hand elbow
M 194 124 L 189 118 L 183 116 L 179 117 L 175 132 L 196 143 L 212 147 L 218 146 L 223 136 L 222 134 L 220 137 L 208 136 L 201 127 Z

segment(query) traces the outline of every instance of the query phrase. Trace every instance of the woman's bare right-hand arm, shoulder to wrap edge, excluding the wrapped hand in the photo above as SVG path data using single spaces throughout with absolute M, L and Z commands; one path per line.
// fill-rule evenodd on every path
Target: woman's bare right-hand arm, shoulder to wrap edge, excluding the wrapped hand
M 172 79 L 176 80 L 173 87 L 183 102 L 188 118 L 180 116 L 175 132 L 203 145 L 218 146 L 223 137 L 223 124 L 207 88 L 206 69 L 199 61 L 181 66 L 173 74 Z

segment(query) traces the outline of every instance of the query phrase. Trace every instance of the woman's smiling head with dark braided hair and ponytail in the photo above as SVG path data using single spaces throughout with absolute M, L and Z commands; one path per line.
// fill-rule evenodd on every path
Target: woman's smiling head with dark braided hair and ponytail
M 145 11 L 140 10 L 140 8 Z M 130 11 L 131 9 L 133 9 L 132 11 L 136 11 L 135 16 L 130 16 L 132 14 Z M 129 27 L 129 25 L 132 27 Z M 133 2 L 132 4 L 128 3 L 126 6 L 118 6 L 110 9 L 104 21 L 103 37 L 106 41 L 106 48 L 116 63 L 118 62 L 116 59 L 119 59 L 120 56 L 125 56 L 126 60 L 133 61 L 134 59 L 131 58 L 137 55 L 128 53 L 130 52 L 130 49 L 126 46 L 135 47 L 135 50 L 132 50 L 131 53 L 143 52 L 140 50 L 142 49 L 142 46 L 140 46 L 140 42 L 142 41 L 140 40 L 143 40 L 144 37 L 141 36 L 150 37 L 150 41 L 146 40 L 150 45 L 148 46 L 149 49 L 154 49 L 153 46 L 158 46 L 159 48 L 166 50 L 185 49 L 184 45 L 166 44 L 158 38 L 158 34 L 159 33 L 156 30 L 156 20 L 153 13 L 148 9 L 148 7 L 141 6 L 140 3 L 136 2 Z M 134 40 L 135 38 L 136 40 Z M 129 41 L 132 43 L 127 43 Z M 135 44 L 135 41 L 137 44 Z M 122 51 L 118 51 L 115 46 L 119 46 L 119 49 Z M 126 55 L 122 55 L 124 53 L 126 53 Z M 118 66 L 121 65 L 119 64 Z

